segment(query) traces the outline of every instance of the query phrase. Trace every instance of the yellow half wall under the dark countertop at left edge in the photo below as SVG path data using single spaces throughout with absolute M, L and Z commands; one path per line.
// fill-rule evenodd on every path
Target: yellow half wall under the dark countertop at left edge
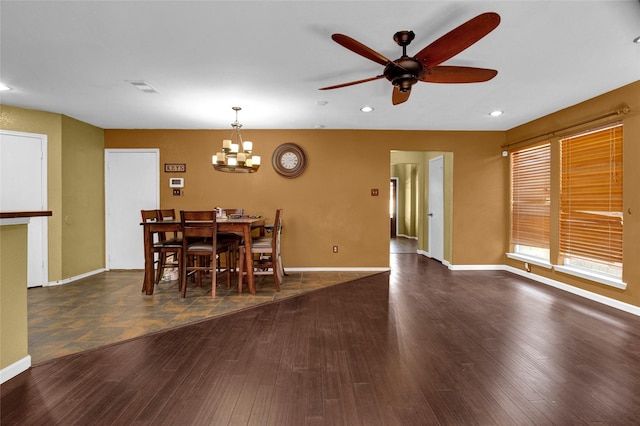
M 27 225 L 0 226 L 0 369 L 27 352 Z

